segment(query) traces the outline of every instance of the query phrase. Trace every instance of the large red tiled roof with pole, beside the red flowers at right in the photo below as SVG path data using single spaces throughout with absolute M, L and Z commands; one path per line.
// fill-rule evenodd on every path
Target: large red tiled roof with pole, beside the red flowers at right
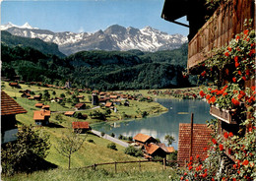
M 184 160 L 189 161 L 189 150 L 190 150 L 190 123 L 179 124 L 179 135 L 178 135 L 178 163 L 184 166 Z M 194 124 L 193 125 L 193 140 L 192 140 L 192 156 L 200 156 L 202 160 L 206 158 L 207 150 L 210 149 L 209 142 L 212 140 L 211 134 L 212 129 L 207 127 L 206 124 Z

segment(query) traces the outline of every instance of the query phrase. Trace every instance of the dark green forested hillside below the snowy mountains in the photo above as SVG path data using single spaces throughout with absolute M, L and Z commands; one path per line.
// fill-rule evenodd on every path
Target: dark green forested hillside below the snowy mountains
M 5 32 L 3 36 L 6 37 Z M 187 78 L 182 76 L 187 61 L 187 44 L 169 51 L 94 50 L 60 58 L 28 46 L 34 39 L 11 36 L 13 43 L 6 43 L 5 38 L 1 42 L 2 76 L 10 79 L 18 75 L 23 81 L 56 86 L 64 86 L 70 80 L 75 87 L 102 91 L 190 86 Z

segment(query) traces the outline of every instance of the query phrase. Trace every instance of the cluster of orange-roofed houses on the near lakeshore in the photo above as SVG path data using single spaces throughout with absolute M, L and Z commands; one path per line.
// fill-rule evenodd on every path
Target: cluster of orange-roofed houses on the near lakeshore
M 174 152 L 173 147 L 166 147 L 159 143 L 155 138 L 142 133 L 137 134 L 133 138 L 135 144 L 144 152 L 144 157 L 152 159 L 155 156 L 166 157 L 167 154 Z

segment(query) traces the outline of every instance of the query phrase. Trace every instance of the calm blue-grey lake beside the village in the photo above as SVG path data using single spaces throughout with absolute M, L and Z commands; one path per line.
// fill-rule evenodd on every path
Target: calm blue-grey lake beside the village
M 168 108 L 168 112 L 145 119 L 98 123 L 92 127 L 106 134 L 114 133 L 116 138 L 119 135 L 134 137 L 138 133 L 143 133 L 160 139 L 164 144 L 167 144 L 164 136 L 168 134 L 174 136 L 175 142 L 172 143 L 172 147 L 177 150 L 179 123 L 190 123 L 192 112 L 194 123 L 206 123 L 206 120 L 214 118 L 209 114 L 209 104 L 202 100 L 158 99 L 157 101 Z

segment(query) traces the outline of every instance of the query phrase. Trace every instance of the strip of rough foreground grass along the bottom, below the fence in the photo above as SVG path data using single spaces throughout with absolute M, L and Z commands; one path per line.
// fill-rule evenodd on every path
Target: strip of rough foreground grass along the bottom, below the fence
M 39 171 L 34 172 L 31 175 L 19 174 L 14 177 L 7 177 L 4 180 L 10 181 L 101 181 L 101 180 L 111 180 L 111 181 L 126 181 L 126 180 L 135 180 L 135 181 L 171 181 L 171 180 L 179 180 L 176 176 L 175 171 L 172 169 L 151 169 L 146 170 L 144 165 L 142 164 L 142 171 L 138 171 L 136 166 L 135 169 L 126 171 L 126 172 L 118 172 L 113 173 L 112 171 L 107 171 L 103 168 L 99 168 L 95 170 L 91 169 L 54 169 L 49 171 Z M 145 170 L 144 170 L 145 169 Z

